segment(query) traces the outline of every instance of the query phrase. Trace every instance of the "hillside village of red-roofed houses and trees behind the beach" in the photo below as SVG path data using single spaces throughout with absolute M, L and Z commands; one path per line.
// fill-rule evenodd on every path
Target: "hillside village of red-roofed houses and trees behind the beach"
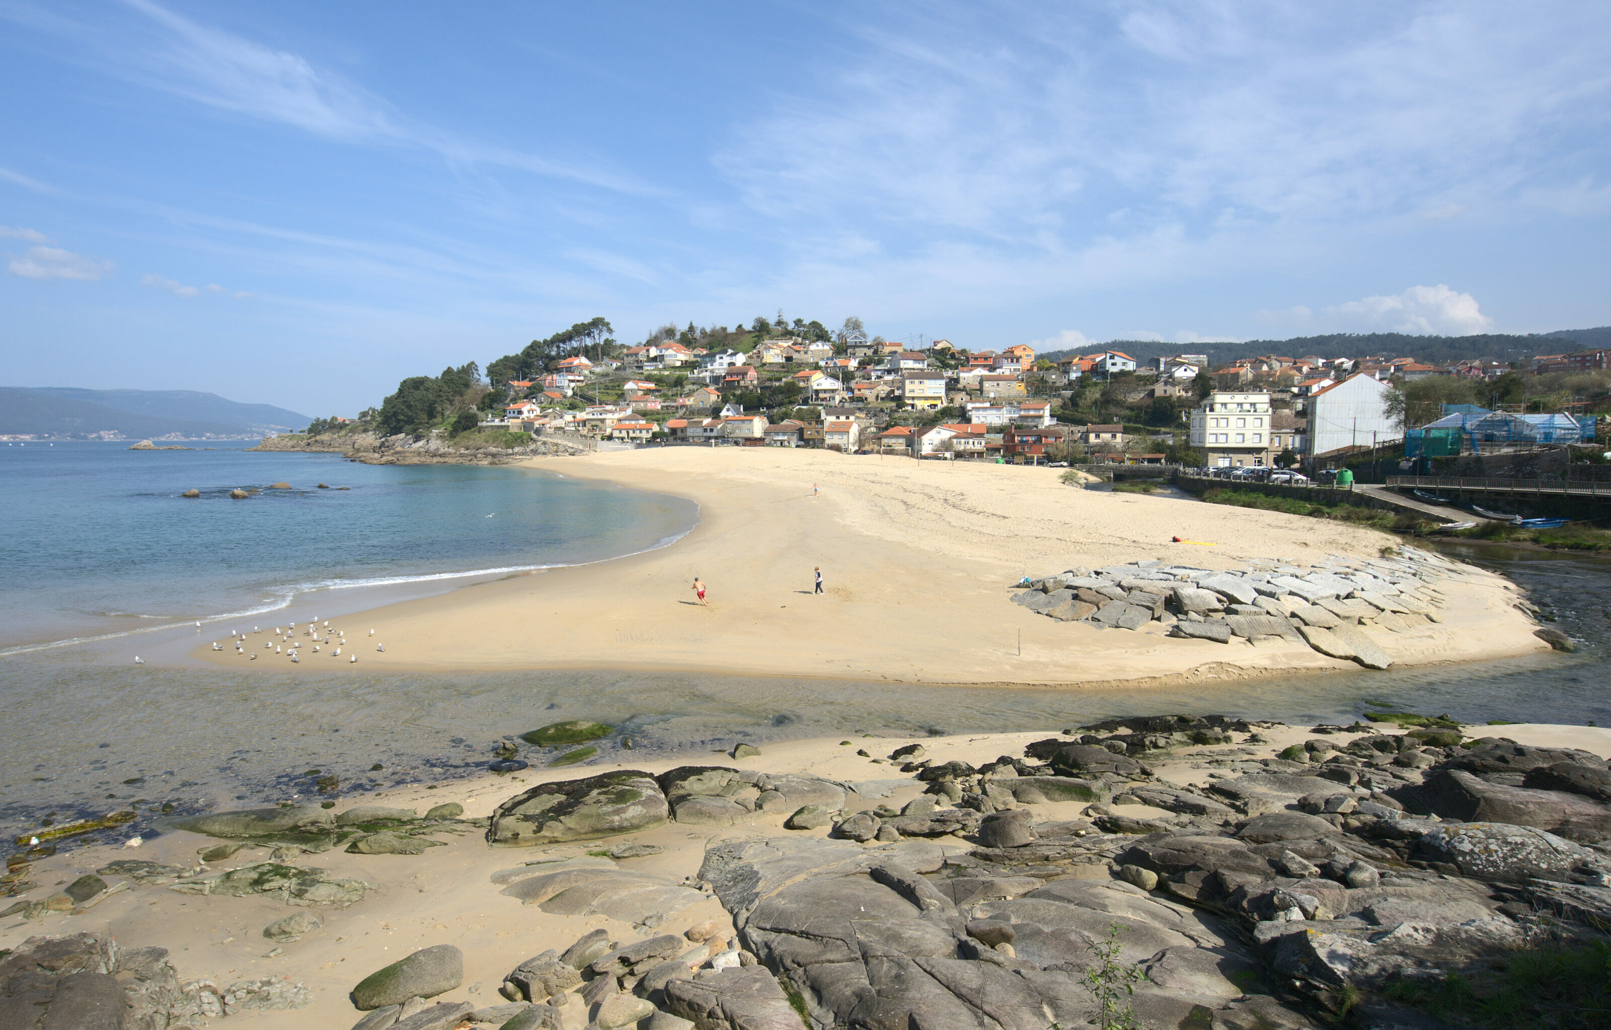
M 620 444 L 1313 468 L 1400 444 L 1405 426 L 1416 435 L 1452 404 L 1484 414 L 1490 409 L 1476 401 L 1505 412 L 1582 412 L 1585 377 L 1587 389 L 1601 394 L 1598 406 L 1611 380 L 1611 349 L 1539 356 L 1524 369 L 1316 354 L 1215 367 L 1208 354 L 1137 360 L 1123 349 L 1037 354 L 1028 344 L 886 341 L 867 338 L 857 319 L 836 333 L 781 315 L 735 332 L 664 327 L 636 346 L 615 344 L 606 332 L 609 323 L 594 319 L 535 341 L 491 362 L 487 381 L 474 364 L 449 369 L 440 378 L 454 380 L 449 393 L 472 388 L 458 406 L 469 407 L 474 394 L 474 414 L 453 417 L 449 402 L 430 410 L 456 433 Z M 433 385 L 406 380 L 382 422 L 411 383 Z M 403 428 L 395 412 L 391 420 L 388 431 Z M 337 422 L 345 420 L 329 425 Z

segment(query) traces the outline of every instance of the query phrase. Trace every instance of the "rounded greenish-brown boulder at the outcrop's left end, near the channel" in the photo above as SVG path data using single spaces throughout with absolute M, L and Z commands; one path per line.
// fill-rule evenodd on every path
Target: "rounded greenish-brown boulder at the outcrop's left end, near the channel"
M 487 827 L 487 842 L 499 847 L 536 847 L 590 840 L 665 822 L 669 806 L 648 772 L 620 769 L 586 779 L 538 784 L 499 805 Z

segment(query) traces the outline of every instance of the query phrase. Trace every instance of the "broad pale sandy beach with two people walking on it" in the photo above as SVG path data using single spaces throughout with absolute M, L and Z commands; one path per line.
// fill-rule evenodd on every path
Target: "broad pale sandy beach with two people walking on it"
M 926 684 L 1100 686 L 1339 670 L 1302 642 L 1252 647 L 1057 623 L 1007 597 L 1023 576 L 1144 558 L 1376 557 L 1400 541 L 1334 521 L 1084 491 L 1058 470 L 778 447 L 654 447 L 535 459 L 564 475 L 690 497 L 701 521 L 648 554 L 483 583 L 351 615 L 317 668 L 652 670 Z M 1195 544 L 1171 542 L 1179 536 Z M 814 595 L 814 568 L 825 592 Z M 709 584 L 696 604 L 694 578 Z M 1395 663 L 1535 652 L 1503 578 L 1464 566 L 1442 624 L 1376 632 Z M 367 636 L 385 644 L 377 652 Z M 256 641 L 253 641 L 256 645 Z M 329 653 L 329 649 L 324 652 Z M 351 653 L 359 663 L 348 663 Z M 195 655 L 238 665 L 234 650 Z M 256 661 L 255 670 L 309 668 Z

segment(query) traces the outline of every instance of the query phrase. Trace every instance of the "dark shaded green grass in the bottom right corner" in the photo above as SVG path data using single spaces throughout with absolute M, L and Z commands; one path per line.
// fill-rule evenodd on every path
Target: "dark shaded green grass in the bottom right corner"
M 1394 1001 L 1458 1027 L 1588 1030 L 1611 1025 L 1611 945 L 1526 948 L 1493 969 L 1443 980 L 1398 980 Z

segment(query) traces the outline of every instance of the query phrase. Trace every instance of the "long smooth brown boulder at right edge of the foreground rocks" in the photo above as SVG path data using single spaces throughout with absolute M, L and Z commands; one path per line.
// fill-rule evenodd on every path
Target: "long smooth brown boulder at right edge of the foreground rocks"
M 1435 769 L 1423 784 L 1389 793 L 1418 814 L 1529 826 L 1584 843 L 1611 838 L 1608 805 L 1580 793 L 1493 784 L 1464 769 Z

